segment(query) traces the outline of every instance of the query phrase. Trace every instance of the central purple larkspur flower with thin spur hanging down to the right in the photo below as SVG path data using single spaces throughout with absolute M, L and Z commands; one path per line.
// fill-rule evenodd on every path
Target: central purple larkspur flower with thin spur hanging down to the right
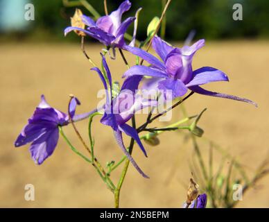
M 147 156 L 146 150 L 141 143 L 141 140 L 139 139 L 137 130 L 129 126 L 126 122 L 134 116 L 134 113 L 136 111 L 147 108 L 149 106 L 156 106 L 157 101 L 143 99 L 141 96 L 135 94 L 135 90 L 138 88 L 139 82 L 142 78 L 141 76 L 133 76 L 127 78 L 124 81 L 119 94 L 115 98 L 112 98 L 112 77 L 110 69 L 107 66 L 105 56 L 103 56 L 103 54 L 101 55 L 103 57 L 103 66 L 107 74 L 108 86 L 101 70 L 98 69 L 98 67 L 92 68 L 92 70 L 96 71 L 101 78 L 106 92 L 104 114 L 101 119 L 101 123 L 110 126 L 113 129 L 116 142 L 123 150 L 123 153 L 128 157 L 135 169 L 137 169 L 137 171 L 139 171 L 142 176 L 148 178 L 148 176 L 146 176 L 146 174 L 139 168 L 137 163 L 134 161 L 130 153 L 128 153 L 127 149 L 125 148 L 123 144 L 122 133 L 125 133 L 125 135 L 128 135 L 129 137 L 132 137 L 134 141 L 137 142 L 139 148 L 141 148 L 141 151 L 143 151 L 144 155 Z

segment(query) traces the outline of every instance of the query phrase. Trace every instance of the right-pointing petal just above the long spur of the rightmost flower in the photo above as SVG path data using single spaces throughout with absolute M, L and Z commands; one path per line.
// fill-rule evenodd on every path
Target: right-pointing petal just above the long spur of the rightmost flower
M 197 69 L 196 71 L 193 71 L 193 76 L 193 80 L 186 84 L 186 87 L 204 85 L 217 81 L 229 81 L 228 76 L 226 76 L 222 71 L 212 67 L 202 67 Z

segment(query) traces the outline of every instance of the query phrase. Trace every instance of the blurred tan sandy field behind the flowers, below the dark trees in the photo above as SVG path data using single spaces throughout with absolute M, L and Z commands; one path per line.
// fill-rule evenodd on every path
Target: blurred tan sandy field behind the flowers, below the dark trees
M 176 44 L 180 46 L 180 44 Z M 100 62 L 101 45 L 87 45 L 93 60 Z M 119 56 L 119 55 L 118 55 Z M 127 54 L 128 60 L 134 60 Z M 203 108 L 207 112 L 199 126 L 205 137 L 225 147 L 242 162 L 250 175 L 268 154 L 269 108 L 269 43 L 268 42 L 207 42 L 198 51 L 193 68 L 216 67 L 225 71 L 229 83 L 212 83 L 205 88 L 243 96 L 259 104 L 252 105 L 194 95 L 186 101 L 190 115 Z M 114 80 L 121 80 L 125 71 L 122 60 L 109 60 Z M 98 178 L 94 168 L 71 152 L 60 138 L 55 152 L 44 164 L 36 166 L 28 146 L 15 148 L 13 143 L 45 94 L 55 108 L 67 111 L 69 94 L 75 94 L 82 105 L 78 112 L 96 107 L 101 81 L 90 71 L 79 44 L 0 44 L 0 207 L 113 207 L 113 195 Z M 145 116 L 138 118 L 142 123 Z M 179 120 L 179 109 L 173 120 Z M 78 123 L 87 139 L 87 121 Z M 64 128 L 73 144 L 83 151 L 71 127 Z M 112 130 L 94 120 L 96 155 L 105 164 L 119 160 L 121 150 L 114 142 Z M 159 146 L 146 146 L 148 158 L 134 147 L 134 158 L 150 176 L 146 180 L 130 166 L 121 192 L 121 207 L 181 207 L 191 171 L 191 144 L 184 144 L 179 133 L 164 133 Z M 126 141 L 127 144 L 127 141 Z M 208 146 L 201 143 L 203 155 Z M 216 157 L 214 166 L 219 158 Z M 228 165 L 228 162 L 227 162 Z M 121 168 L 112 176 L 116 182 Z M 199 181 L 198 181 L 199 182 Z M 251 189 L 237 207 L 269 207 L 269 176 Z M 35 186 L 35 201 L 24 200 L 24 186 Z

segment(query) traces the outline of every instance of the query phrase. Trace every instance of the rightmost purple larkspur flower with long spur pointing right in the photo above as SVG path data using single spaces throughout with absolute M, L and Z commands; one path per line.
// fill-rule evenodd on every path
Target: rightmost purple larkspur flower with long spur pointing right
M 192 46 L 183 46 L 182 49 L 180 49 L 168 45 L 159 37 L 154 37 L 153 49 L 162 61 L 142 49 L 124 46 L 123 49 L 130 51 L 134 55 L 139 56 L 150 63 L 150 67 L 134 65 L 123 74 L 123 78 L 130 76 L 150 76 L 152 78 L 146 80 L 143 88 L 163 89 L 164 96 L 166 96 L 166 90 L 170 89 L 172 90 L 171 99 L 183 96 L 188 89 L 191 89 L 198 94 L 234 99 L 257 105 L 248 99 L 242 99 L 238 96 L 221 94 L 218 92 L 209 92 L 200 87 L 200 85 L 205 85 L 211 82 L 228 81 L 228 77 L 223 71 L 212 67 L 202 67 L 193 71 L 191 65 L 193 56 L 196 51 L 204 45 L 205 40 L 199 40 Z

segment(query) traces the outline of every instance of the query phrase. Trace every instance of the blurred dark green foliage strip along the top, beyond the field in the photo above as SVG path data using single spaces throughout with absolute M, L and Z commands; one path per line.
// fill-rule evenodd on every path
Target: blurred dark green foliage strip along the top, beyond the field
M 71 1 L 71 0 L 70 0 Z M 88 0 L 96 10 L 104 15 L 103 0 Z M 63 40 L 64 27 L 69 26 L 69 17 L 75 8 L 65 8 L 62 0 L 33 0 L 35 22 L 24 37 L 33 40 Z M 146 37 L 146 26 L 153 17 L 162 12 L 162 0 L 131 0 L 132 8 L 123 15 L 123 19 L 133 16 L 142 7 L 139 17 L 139 39 Z M 108 10 L 115 10 L 120 1 L 107 0 Z M 232 14 L 234 3 L 243 6 L 243 21 L 234 21 Z M 78 7 L 87 15 L 89 12 Z M 269 37 L 269 1 L 268 0 L 173 0 L 167 13 L 166 38 L 184 40 L 191 30 L 196 37 L 207 39 L 230 38 L 267 38 Z M 132 27 L 130 27 L 132 28 Z M 132 31 L 130 30 L 130 33 Z M 64 41 L 75 40 L 69 35 Z

